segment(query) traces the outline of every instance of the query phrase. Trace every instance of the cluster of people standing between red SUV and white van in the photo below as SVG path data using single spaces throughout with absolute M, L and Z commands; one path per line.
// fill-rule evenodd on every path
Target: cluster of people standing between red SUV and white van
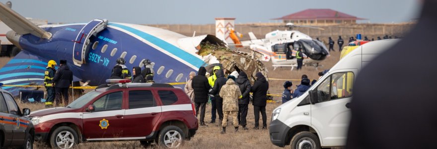
M 267 129 L 266 104 L 269 82 L 265 76 L 261 72 L 256 73 L 256 80 L 252 86 L 247 74 L 243 71 L 239 73 L 234 71 L 231 74 L 225 74 L 225 72 L 225 69 L 215 66 L 211 76 L 205 67 L 200 67 L 197 75 L 194 72 L 190 73 L 185 92 L 193 100 L 197 116 L 200 114 L 198 117 L 200 126 L 208 127 L 205 124 L 205 110 L 206 104 L 211 100 L 210 123 L 216 123 L 218 115 L 218 125 L 222 127 L 221 134 L 226 133 L 229 117 L 232 119 L 235 132 L 238 132 L 240 125 L 243 130 L 248 130 L 246 117 L 252 98 L 255 116 L 253 129 L 259 129 L 260 113 L 263 120 L 262 129 Z

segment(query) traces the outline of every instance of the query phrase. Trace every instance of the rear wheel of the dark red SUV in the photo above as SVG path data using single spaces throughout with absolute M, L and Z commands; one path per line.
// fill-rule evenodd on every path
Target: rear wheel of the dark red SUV
M 167 148 L 178 148 L 182 145 L 185 135 L 184 132 L 176 126 L 167 126 L 159 133 L 159 145 Z

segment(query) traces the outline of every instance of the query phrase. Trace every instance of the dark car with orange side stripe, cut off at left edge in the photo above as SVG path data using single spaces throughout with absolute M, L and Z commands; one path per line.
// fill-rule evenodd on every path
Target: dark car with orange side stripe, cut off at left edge
M 25 117 L 30 109 L 20 111 L 12 95 L 0 89 L 0 149 L 5 148 L 33 148 L 35 128 Z

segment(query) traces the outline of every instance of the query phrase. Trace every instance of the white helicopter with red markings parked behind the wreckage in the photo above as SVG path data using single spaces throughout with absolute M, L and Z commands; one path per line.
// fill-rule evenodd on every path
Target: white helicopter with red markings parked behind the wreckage
M 281 27 L 287 27 L 288 30 L 269 32 L 266 34 L 265 39 L 257 39 L 252 32 L 249 32 L 251 40 L 241 41 L 241 45 L 243 47 L 250 47 L 251 50 L 263 54 L 262 61 L 268 62 L 272 60 L 274 70 L 276 70 L 277 67 L 291 67 L 291 70 L 297 67 L 296 52 L 299 47 L 302 48 L 304 66 L 314 66 L 317 69 L 318 64 L 329 55 L 328 49 L 322 42 L 314 40 L 297 30 L 293 30 L 294 27 L 307 27 L 321 30 L 323 30 L 323 28 L 294 25 L 293 23 L 287 23 Z

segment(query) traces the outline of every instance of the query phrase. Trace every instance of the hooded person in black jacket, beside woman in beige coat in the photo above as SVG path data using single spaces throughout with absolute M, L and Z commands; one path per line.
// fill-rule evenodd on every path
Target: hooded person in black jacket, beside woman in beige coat
M 193 77 L 191 81 L 191 86 L 194 89 L 194 105 L 196 106 L 196 116 L 200 112 L 200 126 L 206 126 L 205 124 L 205 108 L 208 102 L 208 92 L 211 89 L 208 83 L 208 78 L 205 76 L 207 70 L 205 67 L 200 67 L 197 75 Z

